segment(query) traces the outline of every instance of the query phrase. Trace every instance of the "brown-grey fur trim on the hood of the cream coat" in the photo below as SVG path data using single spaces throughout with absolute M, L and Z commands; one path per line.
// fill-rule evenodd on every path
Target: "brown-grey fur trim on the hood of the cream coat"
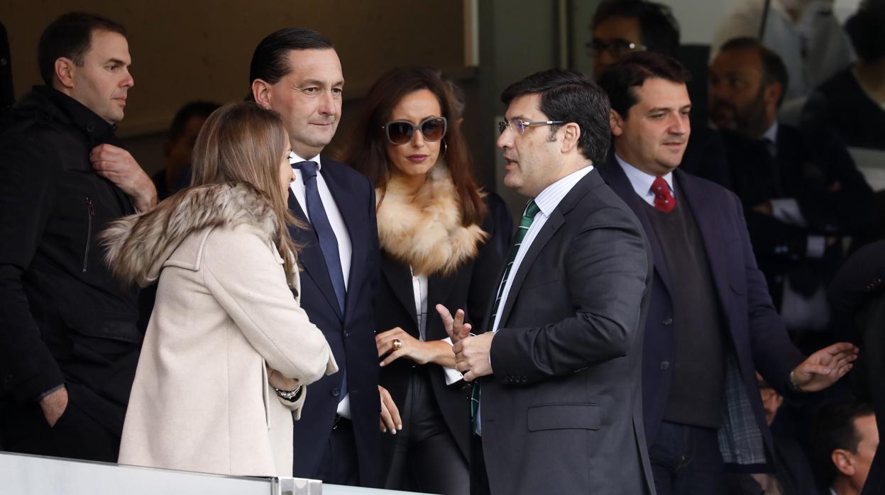
M 101 233 L 105 263 L 116 278 L 147 286 L 163 263 L 192 232 L 210 226 L 249 224 L 271 242 L 276 218 L 270 201 L 243 183 L 190 187 L 156 208 L 109 224 Z

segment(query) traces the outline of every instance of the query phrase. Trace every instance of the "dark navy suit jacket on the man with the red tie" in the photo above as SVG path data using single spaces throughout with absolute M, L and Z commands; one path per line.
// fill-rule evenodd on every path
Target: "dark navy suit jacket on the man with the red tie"
M 643 349 L 643 415 L 649 445 L 664 418 L 673 361 L 673 287 L 667 274 L 666 246 L 661 245 L 645 213 L 643 199 L 630 184 L 614 156 L 600 167 L 603 178 L 627 202 L 642 222 L 654 253 L 654 288 L 645 326 Z M 765 278 L 756 266 L 741 202 L 712 182 L 677 170 L 673 172 L 676 201 L 688 202 L 704 240 L 716 295 L 726 320 L 730 354 L 726 369 L 730 446 L 721 449 L 725 461 L 760 464 L 772 461 L 772 438 L 766 427 L 756 370 L 779 392 L 787 393 L 790 371 L 804 360 L 793 347 L 768 295 Z M 748 442 L 749 439 L 749 442 Z M 765 449 L 763 450 L 763 445 Z M 735 452 L 736 451 L 736 452 Z

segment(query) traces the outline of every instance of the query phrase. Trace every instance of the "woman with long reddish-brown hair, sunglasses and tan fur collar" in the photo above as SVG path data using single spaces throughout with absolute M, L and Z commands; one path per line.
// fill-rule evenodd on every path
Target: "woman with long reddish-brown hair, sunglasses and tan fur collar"
M 467 493 L 467 386 L 435 305 L 482 328 L 501 256 L 465 143 L 449 126 L 448 85 L 429 67 L 370 89 L 344 163 L 375 184 L 381 280 L 375 343 L 402 428 L 384 442 L 385 488 Z M 383 428 L 382 428 L 383 429 Z

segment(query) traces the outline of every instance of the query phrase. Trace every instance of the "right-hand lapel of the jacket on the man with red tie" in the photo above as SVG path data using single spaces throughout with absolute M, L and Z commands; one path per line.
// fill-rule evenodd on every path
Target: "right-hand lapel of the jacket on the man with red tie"
M 716 203 L 707 196 L 703 187 L 698 187 L 701 185 L 696 182 L 696 179 L 681 171 L 676 171 L 673 176 L 679 181 L 681 193 L 685 196 L 685 201 L 689 203 L 691 213 L 695 217 L 697 230 L 700 231 L 701 239 L 704 240 L 704 250 L 707 254 L 713 282 L 716 285 L 716 292 L 719 293 L 722 308 L 725 309 L 727 308 L 729 283 L 726 270 L 729 263 L 717 263 L 719 257 L 727 252 L 723 245 L 726 235 L 721 232 L 721 218 L 725 216 L 720 215 L 717 209 L 711 208 Z M 656 264 L 657 262 L 658 260 L 655 260 Z M 730 263 L 736 262 L 731 261 Z

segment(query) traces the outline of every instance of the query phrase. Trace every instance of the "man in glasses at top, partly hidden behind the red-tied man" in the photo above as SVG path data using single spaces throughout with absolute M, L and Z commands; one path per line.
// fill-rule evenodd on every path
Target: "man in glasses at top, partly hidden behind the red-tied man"
M 679 24 L 670 7 L 644 0 L 605 0 L 590 23 L 593 40 L 588 48 L 593 56 L 596 80 L 605 68 L 637 51 L 653 51 L 668 57 L 679 55 Z M 720 133 L 706 126 L 706 116 L 694 112 L 697 124 L 691 126 L 691 141 L 682 156 L 680 170 L 730 187 L 725 145 Z

